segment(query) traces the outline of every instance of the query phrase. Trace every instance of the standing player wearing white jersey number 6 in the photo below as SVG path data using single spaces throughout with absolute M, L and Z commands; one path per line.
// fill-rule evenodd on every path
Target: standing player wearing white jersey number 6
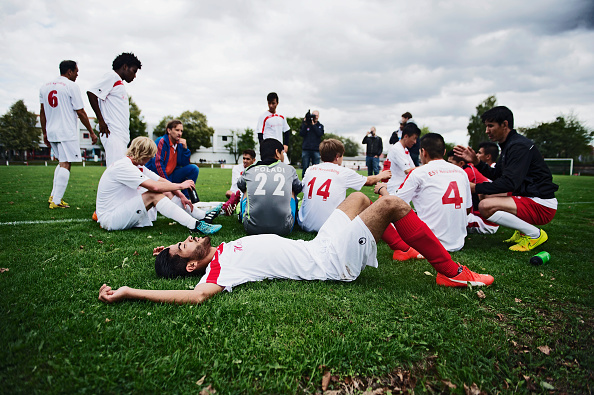
M 59 162 L 54 171 L 52 193 L 48 200 L 51 209 L 69 207 L 62 198 L 70 179 L 70 165 L 81 161 L 77 117 L 89 131 L 93 144 L 97 142 L 97 136 L 84 109 L 80 89 L 74 83 L 77 77 L 76 62 L 64 60 L 60 63 L 60 77 L 39 90 L 39 120 L 43 141 L 54 151 Z

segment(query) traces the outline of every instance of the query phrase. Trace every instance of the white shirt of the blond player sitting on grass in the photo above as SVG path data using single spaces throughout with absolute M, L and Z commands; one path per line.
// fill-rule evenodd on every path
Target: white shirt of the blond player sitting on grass
M 97 188 L 97 216 L 109 214 L 118 204 L 145 192 L 140 184 L 146 180 L 158 181 L 159 176 L 144 166 L 132 164 L 127 156 L 109 166 L 99 180 Z

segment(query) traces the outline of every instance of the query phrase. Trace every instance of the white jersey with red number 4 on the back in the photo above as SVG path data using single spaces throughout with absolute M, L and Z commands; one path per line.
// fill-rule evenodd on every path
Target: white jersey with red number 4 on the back
M 466 172 L 443 159 L 432 160 L 411 171 L 396 193 L 412 201 L 417 215 L 448 251 L 464 247 L 466 209 L 472 207 Z

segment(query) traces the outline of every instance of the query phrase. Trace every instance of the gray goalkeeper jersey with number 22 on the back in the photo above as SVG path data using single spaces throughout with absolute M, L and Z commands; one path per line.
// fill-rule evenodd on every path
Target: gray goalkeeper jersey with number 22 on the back
M 243 226 L 249 235 L 291 232 L 295 216 L 291 212 L 291 192 L 301 192 L 301 182 L 292 166 L 276 161 L 247 168 L 237 180 L 245 194 Z

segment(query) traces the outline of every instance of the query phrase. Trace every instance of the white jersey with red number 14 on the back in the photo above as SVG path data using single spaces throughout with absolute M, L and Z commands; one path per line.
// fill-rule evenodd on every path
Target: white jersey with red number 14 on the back
M 361 190 L 367 177 L 346 167 L 324 162 L 307 168 L 298 222 L 306 232 L 317 232 L 346 197 L 348 188 Z

